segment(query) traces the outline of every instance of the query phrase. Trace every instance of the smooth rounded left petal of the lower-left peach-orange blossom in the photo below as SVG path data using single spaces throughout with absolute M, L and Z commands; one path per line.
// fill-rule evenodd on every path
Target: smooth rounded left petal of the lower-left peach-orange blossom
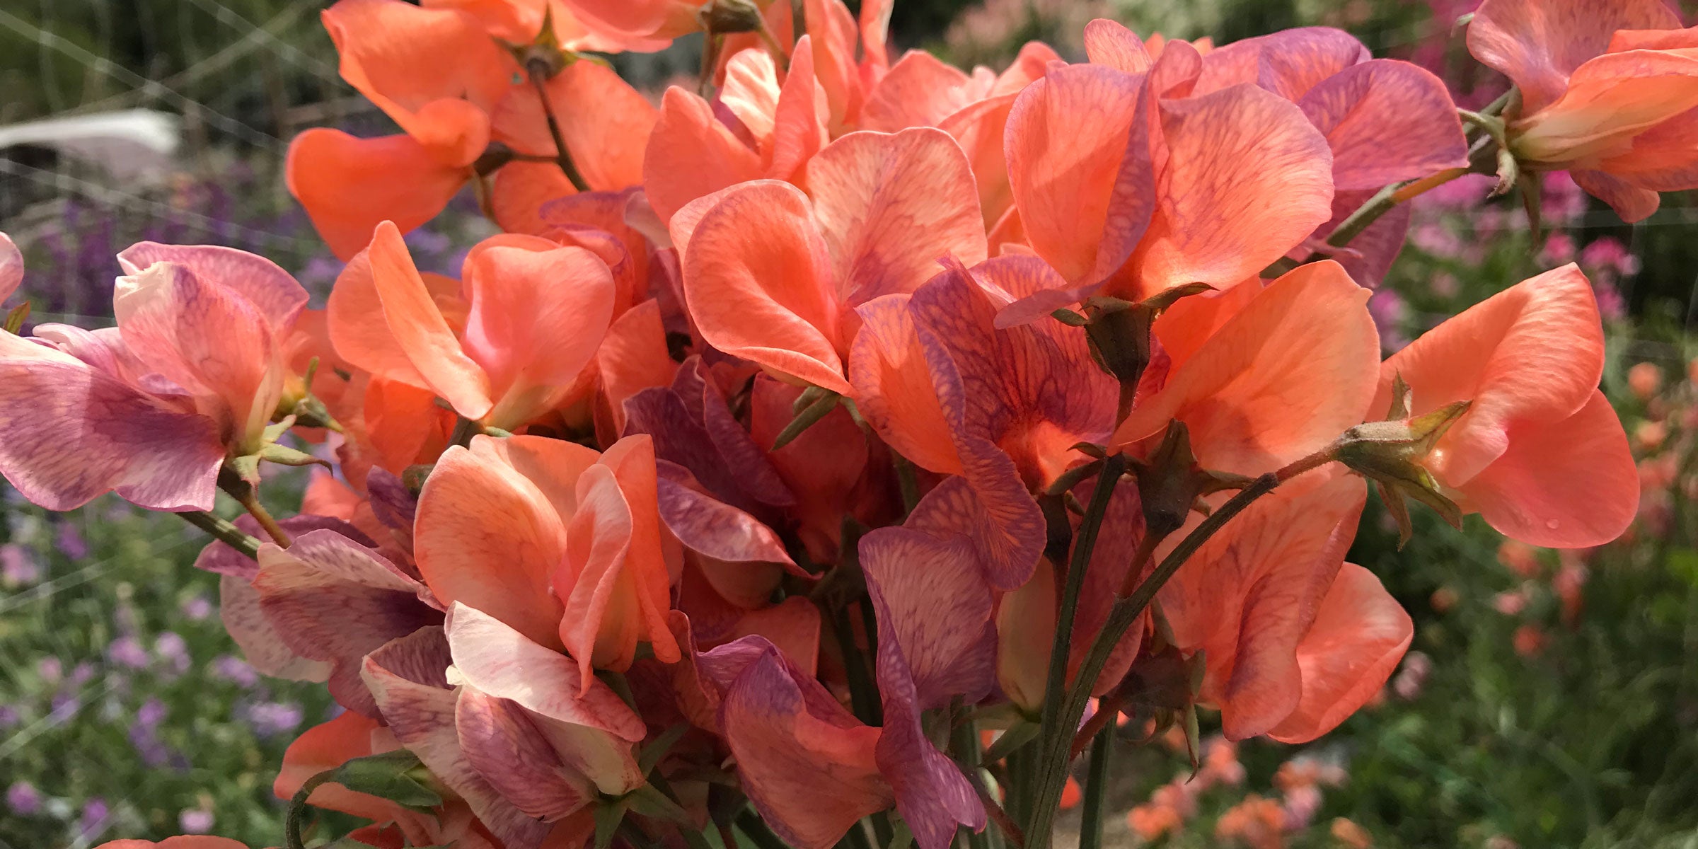
M 413 550 L 443 604 L 475 604 L 542 645 L 559 645 L 562 606 L 548 579 L 565 555 L 565 526 L 511 465 L 467 448 L 443 452 L 419 494 Z

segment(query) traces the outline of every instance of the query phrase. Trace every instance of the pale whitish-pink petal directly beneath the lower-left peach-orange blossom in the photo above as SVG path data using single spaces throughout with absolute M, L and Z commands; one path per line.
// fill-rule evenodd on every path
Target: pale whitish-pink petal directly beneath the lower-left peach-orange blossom
M 448 608 L 448 645 L 467 684 L 516 701 L 540 717 L 584 725 L 627 742 L 647 734 L 642 718 L 599 679 L 579 696 L 577 662 L 543 649 L 494 616 L 465 604 Z

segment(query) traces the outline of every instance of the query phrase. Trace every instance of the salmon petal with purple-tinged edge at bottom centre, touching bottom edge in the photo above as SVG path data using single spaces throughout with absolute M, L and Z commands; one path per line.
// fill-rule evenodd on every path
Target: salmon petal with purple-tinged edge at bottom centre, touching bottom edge
M 880 730 L 857 723 L 815 679 L 796 678 L 771 644 L 730 683 L 720 725 L 744 793 L 796 849 L 829 849 L 893 801 L 873 754 Z

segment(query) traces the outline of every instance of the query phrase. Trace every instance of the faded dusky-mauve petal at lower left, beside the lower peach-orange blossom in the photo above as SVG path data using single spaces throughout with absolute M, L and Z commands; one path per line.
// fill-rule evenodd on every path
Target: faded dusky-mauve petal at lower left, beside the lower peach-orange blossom
M 360 681 L 360 659 L 441 623 L 423 584 L 331 530 L 304 533 L 289 548 L 263 545 L 253 589 L 289 649 L 331 664 L 331 696 L 367 717 L 377 705 Z

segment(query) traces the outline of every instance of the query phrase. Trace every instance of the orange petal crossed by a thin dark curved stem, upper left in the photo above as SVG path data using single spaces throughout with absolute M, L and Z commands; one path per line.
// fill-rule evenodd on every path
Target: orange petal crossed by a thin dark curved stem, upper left
M 574 61 L 548 80 L 548 102 L 572 163 L 591 188 L 642 183 L 644 148 L 659 110 L 613 68 Z M 514 92 L 494 117 L 494 138 L 518 153 L 554 156 L 554 136 L 533 92 Z

